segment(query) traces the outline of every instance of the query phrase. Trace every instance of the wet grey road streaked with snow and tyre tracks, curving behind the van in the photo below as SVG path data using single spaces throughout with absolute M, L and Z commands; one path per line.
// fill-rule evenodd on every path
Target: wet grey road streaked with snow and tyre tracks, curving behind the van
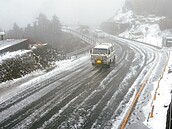
M 6 92 L 0 97 L 1 129 L 115 127 L 159 55 L 150 48 L 105 40 L 116 45 L 116 64 L 93 67 L 85 54 Z

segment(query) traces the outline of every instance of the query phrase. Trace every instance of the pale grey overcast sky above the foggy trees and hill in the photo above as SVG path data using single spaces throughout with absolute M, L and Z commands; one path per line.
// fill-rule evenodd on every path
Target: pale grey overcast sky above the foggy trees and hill
M 0 0 L 0 28 L 32 24 L 40 13 L 55 14 L 63 24 L 99 25 L 112 17 L 125 0 Z

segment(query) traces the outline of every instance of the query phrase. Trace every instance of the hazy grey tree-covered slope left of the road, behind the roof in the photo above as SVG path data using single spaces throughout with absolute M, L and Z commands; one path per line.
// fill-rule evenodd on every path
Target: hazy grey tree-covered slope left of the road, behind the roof
M 40 13 L 33 24 L 21 28 L 14 23 L 13 28 L 6 33 L 9 39 L 30 39 L 33 43 L 48 43 L 65 53 L 80 49 L 85 45 L 78 38 L 69 33 L 62 32 L 61 24 L 56 15 L 49 20 L 46 15 Z

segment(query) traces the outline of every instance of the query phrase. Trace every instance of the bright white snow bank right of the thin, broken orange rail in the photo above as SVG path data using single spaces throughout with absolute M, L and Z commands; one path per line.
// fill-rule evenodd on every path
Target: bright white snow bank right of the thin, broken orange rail
M 168 73 L 168 68 L 172 65 L 172 52 L 170 52 L 169 62 L 157 88 L 156 99 L 153 100 L 153 117 L 149 118 L 145 124 L 152 129 L 165 129 L 168 106 L 171 102 L 172 73 Z M 158 84 L 158 83 L 157 83 Z M 153 94 L 154 95 L 154 94 Z M 161 124 L 157 124 L 161 123 Z

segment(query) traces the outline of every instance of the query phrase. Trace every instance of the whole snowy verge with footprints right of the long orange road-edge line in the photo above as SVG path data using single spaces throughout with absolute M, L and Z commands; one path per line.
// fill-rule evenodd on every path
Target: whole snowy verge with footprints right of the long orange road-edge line
M 172 76 L 168 73 L 168 66 L 172 64 L 172 56 L 169 56 L 169 61 L 164 56 L 162 54 L 159 57 L 160 62 L 151 72 L 126 129 L 165 129 L 168 105 L 171 102 Z

